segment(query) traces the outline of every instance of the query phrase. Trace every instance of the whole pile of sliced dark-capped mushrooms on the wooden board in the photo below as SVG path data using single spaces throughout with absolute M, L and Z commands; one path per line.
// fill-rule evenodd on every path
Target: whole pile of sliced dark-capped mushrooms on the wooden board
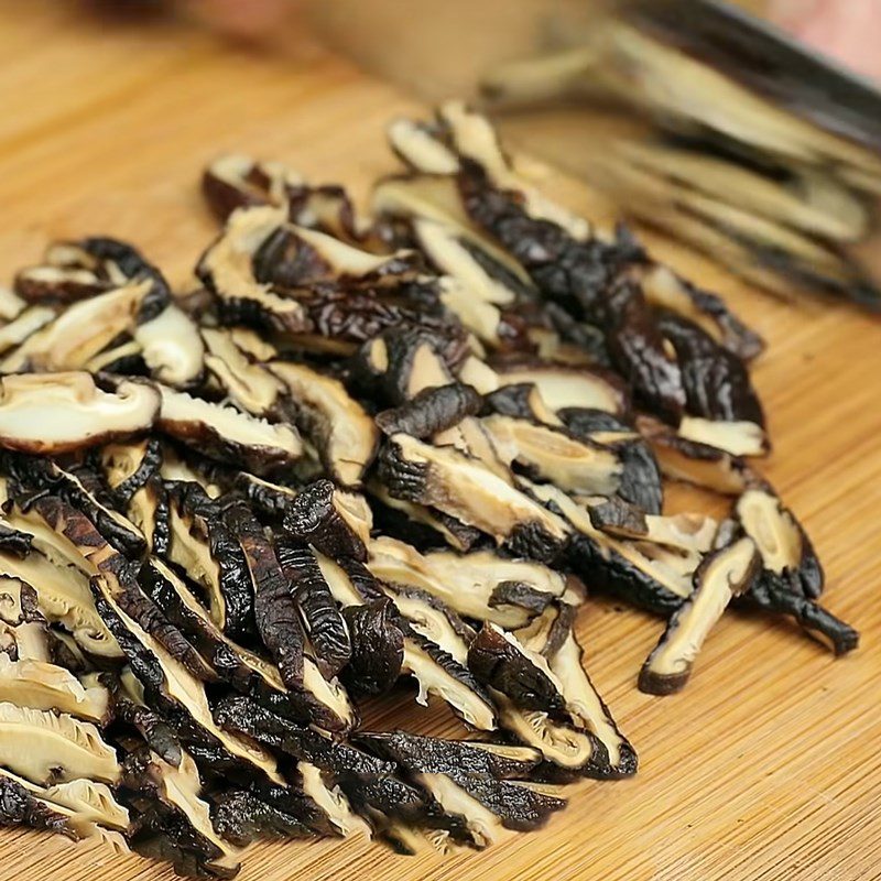
M 89 238 L 3 294 L 1 823 L 227 878 L 255 838 L 483 847 L 637 771 L 585 589 L 665 619 L 653 694 L 729 602 L 855 648 L 753 465 L 757 335 L 465 106 L 390 140 L 370 220 L 214 163 L 194 292 Z M 662 477 L 730 515 L 664 515 Z M 392 689 L 461 738 L 367 729 Z

